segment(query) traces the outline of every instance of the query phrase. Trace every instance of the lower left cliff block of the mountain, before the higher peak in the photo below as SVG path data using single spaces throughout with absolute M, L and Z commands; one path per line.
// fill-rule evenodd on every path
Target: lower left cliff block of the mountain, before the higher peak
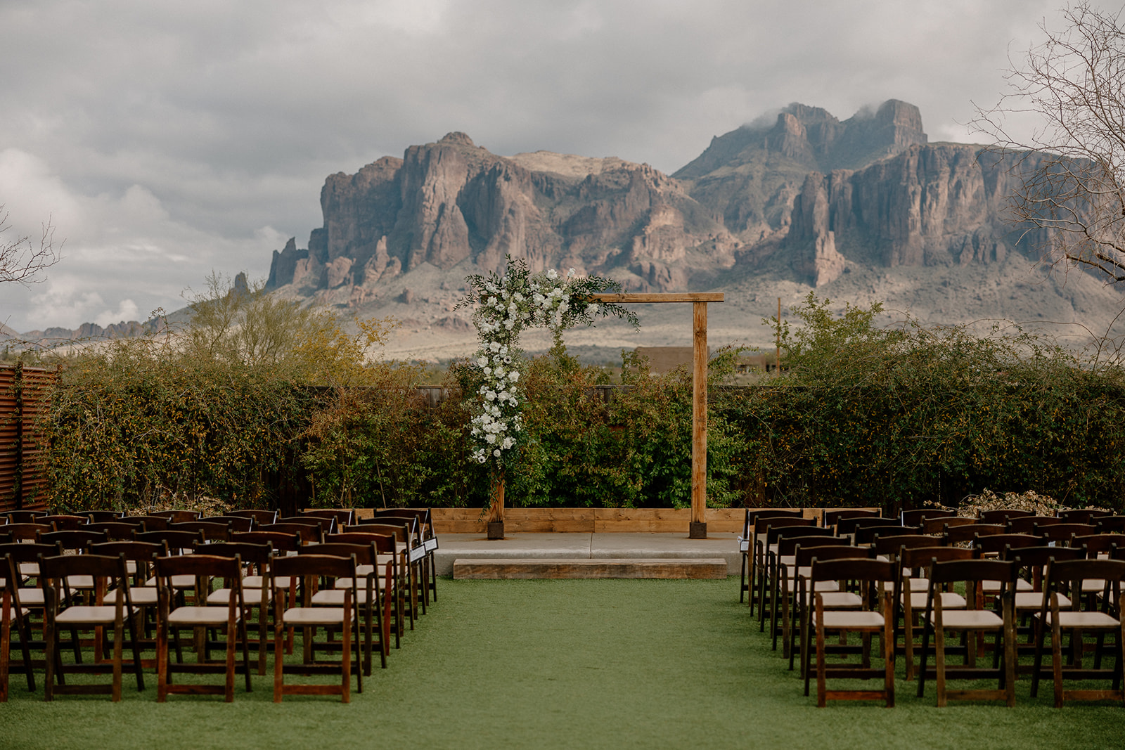
M 534 270 L 573 266 L 664 290 L 729 268 L 739 245 L 678 181 L 647 164 L 497 156 L 462 133 L 330 177 L 321 207 L 324 226 L 307 249 L 290 240 L 274 251 L 270 288 L 346 288 L 363 302 L 380 281 L 422 264 L 496 270 L 510 254 Z

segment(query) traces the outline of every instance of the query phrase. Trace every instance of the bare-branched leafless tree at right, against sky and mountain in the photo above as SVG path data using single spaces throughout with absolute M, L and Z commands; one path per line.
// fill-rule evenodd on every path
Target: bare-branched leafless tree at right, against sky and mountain
M 1110 283 L 1125 281 L 1125 29 L 1122 11 L 1078 2 L 1062 28 L 1046 21 L 1046 40 L 1012 62 L 1009 92 L 972 125 L 994 139 L 1020 179 L 1012 220 L 1044 229 L 1045 257 L 1086 268 Z M 1009 56 L 1009 61 L 1011 57 Z M 1009 120 L 1038 116 L 1032 135 L 1011 135 Z

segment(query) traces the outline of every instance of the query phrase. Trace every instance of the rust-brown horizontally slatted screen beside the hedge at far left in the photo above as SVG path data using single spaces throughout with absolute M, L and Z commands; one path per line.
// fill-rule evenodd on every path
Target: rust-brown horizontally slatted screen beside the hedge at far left
M 52 370 L 0 365 L 0 512 L 46 507 L 35 422 L 47 408 L 54 379 Z

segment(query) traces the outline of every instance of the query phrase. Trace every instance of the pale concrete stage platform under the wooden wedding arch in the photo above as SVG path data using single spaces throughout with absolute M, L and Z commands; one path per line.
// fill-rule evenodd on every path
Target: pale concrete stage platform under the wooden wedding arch
M 439 576 L 453 572 L 453 561 L 478 560 L 654 560 L 682 558 L 722 559 L 727 575 L 737 576 L 740 564 L 738 534 L 713 533 L 688 539 L 686 533 L 514 533 L 488 541 L 485 534 L 439 534 L 434 558 Z

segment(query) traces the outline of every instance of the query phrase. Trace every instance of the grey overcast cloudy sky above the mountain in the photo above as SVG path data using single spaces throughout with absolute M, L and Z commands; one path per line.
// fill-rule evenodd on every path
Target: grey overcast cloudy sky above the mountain
M 673 172 L 792 101 L 890 98 L 930 141 L 1004 91 L 1061 0 L 2 0 L 0 204 L 62 261 L 0 287 L 17 331 L 144 319 L 269 272 L 320 190 L 450 130 L 498 154 Z

